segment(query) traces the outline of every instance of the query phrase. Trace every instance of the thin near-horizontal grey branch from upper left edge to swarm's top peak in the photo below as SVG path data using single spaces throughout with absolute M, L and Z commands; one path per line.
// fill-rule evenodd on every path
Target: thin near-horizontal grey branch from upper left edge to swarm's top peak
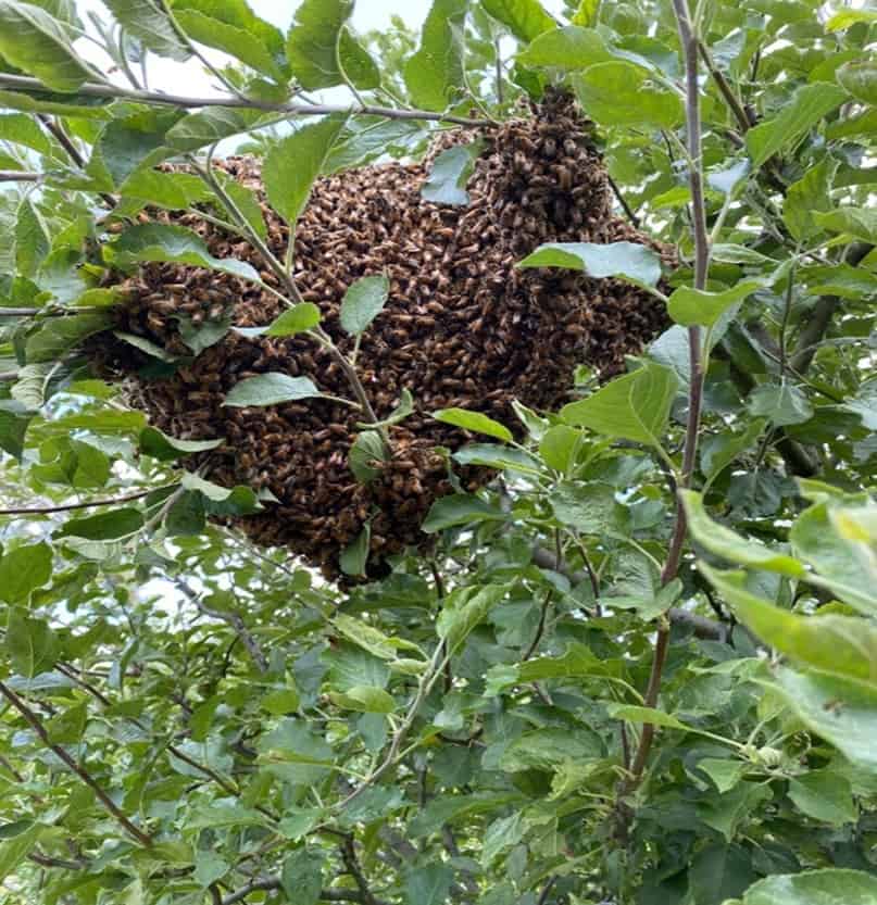
M 23 75 L 0 74 L 0 88 L 11 91 L 46 91 L 46 85 L 38 78 Z M 492 120 L 471 120 L 465 116 L 450 116 L 429 110 L 393 110 L 391 106 L 373 106 L 371 104 L 302 104 L 302 103 L 272 103 L 254 98 L 190 98 L 185 95 L 165 95 L 160 91 L 138 91 L 123 88 L 118 85 L 86 81 L 76 89 L 76 93 L 87 98 L 123 98 L 138 103 L 160 104 L 162 106 L 202 108 L 227 106 L 245 110 L 264 110 L 274 113 L 286 113 L 289 116 L 324 116 L 330 113 L 352 113 L 366 116 L 384 116 L 387 120 L 424 120 L 433 123 L 453 123 L 458 126 L 483 128 L 493 125 Z

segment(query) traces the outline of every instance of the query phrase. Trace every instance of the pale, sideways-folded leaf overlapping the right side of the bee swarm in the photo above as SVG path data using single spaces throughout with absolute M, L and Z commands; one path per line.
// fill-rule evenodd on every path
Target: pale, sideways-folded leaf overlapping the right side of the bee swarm
M 566 267 L 592 277 L 626 277 L 644 286 L 654 286 L 661 279 L 661 259 L 638 242 L 549 242 L 517 266 Z

